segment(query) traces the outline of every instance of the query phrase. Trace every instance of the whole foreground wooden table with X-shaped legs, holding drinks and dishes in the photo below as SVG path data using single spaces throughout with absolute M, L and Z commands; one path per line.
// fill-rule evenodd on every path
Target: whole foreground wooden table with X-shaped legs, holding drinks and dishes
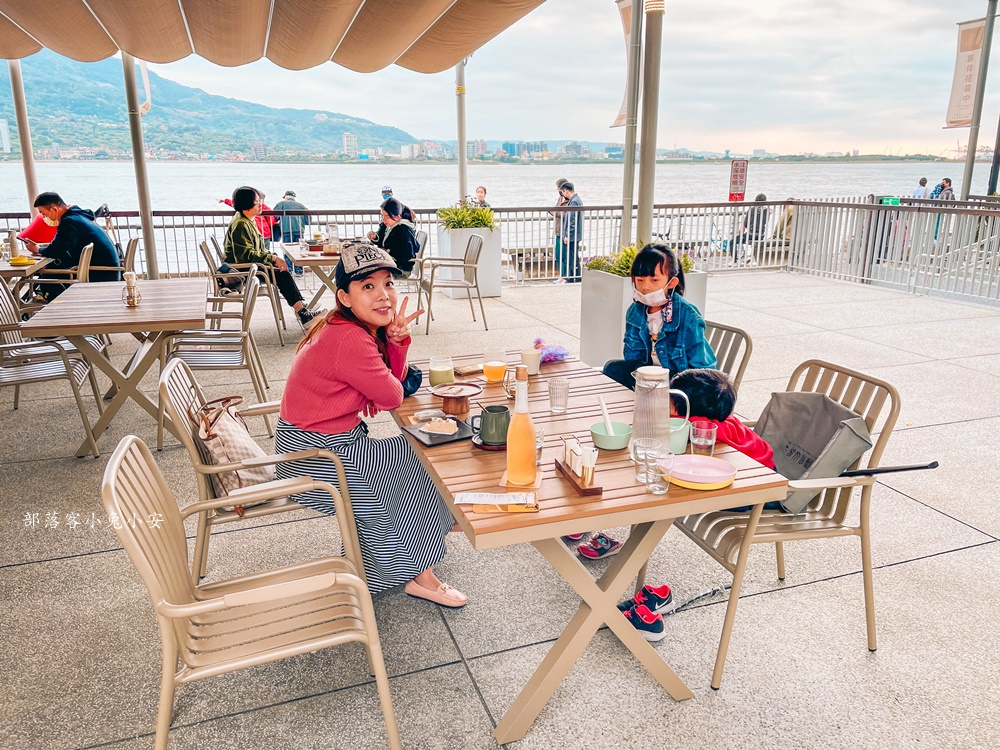
M 516 353 L 508 354 L 514 361 Z M 454 357 L 455 365 L 472 364 L 481 355 Z M 416 363 L 424 369 L 427 364 Z M 566 413 L 549 411 L 546 381 L 553 377 L 570 382 L 569 409 Z M 503 387 L 485 383 L 482 376 L 458 378 L 484 384 L 484 391 L 475 400 L 484 406 L 509 404 Z M 636 482 L 628 449 L 600 451 L 595 485 L 603 494 L 580 496 L 572 485 L 554 468 L 553 460 L 562 457 L 560 436 L 573 435 L 584 444 L 590 441 L 590 426 L 601 421 L 598 396 L 603 396 L 612 419 L 631 423 L 634 394 L 601 372 L 579 362 L 546 363 L 538 376 L 529 378 L 528 402 L 532 420 L 545 428 L 542 450 L 541 486 L 537 493 L 540 509 L 537 513 L 477 514 L 468 505 L 452 505 L 452 512 L 474 549 L 485 550 L 515 544 L 530 543 L 552 565 L 560 576 L 580 596 L 582 602 L 559 639 L 539 665 L 520 695 L 497 725 L 495 735 L 501 744 L 524 737 L 549 698 L 559 687 L 583 654 L 598 629 L 606 624 L 618 639 L 635 655 L 663 688 L 675 699 L 692 697 L 691 691 L 664 661 L 661 654 L 622 616 L 616 604 L 625 597 L 626 588 L 636 578 L 656 545 L 674 520 L 695 513 L 723 510 L 734 506 L 752 505 L 747 533 L 739 550 L 737 575 L 733 589 L 739 592 L 743 570 L 749 553 L 749 540 L 760 518 L 763 504 L 785 497 L 788 480 L 771 469 L 734 451 L 719 446 L 716 455 L 734 464 L 738 470 L 732 485 L 717 490 L 684 489 L 671 485 L 665 495 L 652 495 Z M 440 407 L 441 400 L 427 388 L 421 388 L 406 398 L 393 412 L 401 426 L 413 423 L 413 415 L 421 409 Z M 475 409 L 478 412 L 478 409 Z M 467 415 L 457 415 L 467 418 Z M 427 447 L 404 431 L 417 456 L 449 503 L 459 492 L 504 493 L 499 486 L 506 468 L 506 454 L 486 452 L 473 446 L 470 440 Z M 523 489 L 521 491 L 524 491 Z M 503 502 L 497 499 L 496 502 Z M 607 570 L 596 581 L 581 559 L 562 540 L 567 534 L 616 526 L 632 526 L 632 531 Z M 737 597 L 730 599 L 723 624 L 722 643 L 732 629 L 736 617 Z M 720 649 L 716 669 L 721 671 L 725 649 Z

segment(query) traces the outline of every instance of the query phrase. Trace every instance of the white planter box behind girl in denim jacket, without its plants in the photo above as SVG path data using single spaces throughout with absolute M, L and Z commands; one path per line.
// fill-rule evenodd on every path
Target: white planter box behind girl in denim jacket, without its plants
M 708 274 L 684 274 L 684 298 L 705 314 Z M 604 271 L 583 269 L 580 290 L 580 359 L 591 367 L 603 367 L 621 359 L 625 351 L 625 312 L 632 304 L 632 279 Z

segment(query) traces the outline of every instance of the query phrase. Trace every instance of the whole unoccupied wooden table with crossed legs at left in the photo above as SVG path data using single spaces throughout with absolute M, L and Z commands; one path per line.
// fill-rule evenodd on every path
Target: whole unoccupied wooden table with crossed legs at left
M 158 418 L 158 406 L 139 388 L 140 381 L 159 358 L 164 336 L 205 327 L 206 279 L 141 281 L 142 299 L 137 307 L 126 307 L 122 302 L 123 288 L 123 283 L 113 281 L 73 284 L 21 325 L 21 331 L 28 336 L 65 336 L 92 366 L 111 379 L 114 395 L 94 425 L 98 437 L 128 399 Z M 131 333 L 139 341 L 139 348 L 124 369 L 116 367 L 87 338 L 111 333 Z M 166 417 L 164 426 L 173 430 Z M 77 455 L 88 452 L 84 442 Z

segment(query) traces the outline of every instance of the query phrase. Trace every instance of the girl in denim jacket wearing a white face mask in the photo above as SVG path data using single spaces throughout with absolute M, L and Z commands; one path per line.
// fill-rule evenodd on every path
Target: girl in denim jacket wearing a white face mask
M 632 372 L 659 365 L 671 373 L 715 368 L 705 340 L 705 321 L 684 299 L 684 270 L 665 245 L 646 245 L 632 261 L 635 302 L 625 313 L 625 358 L 604 365 L 604 374 L 635 390 Z

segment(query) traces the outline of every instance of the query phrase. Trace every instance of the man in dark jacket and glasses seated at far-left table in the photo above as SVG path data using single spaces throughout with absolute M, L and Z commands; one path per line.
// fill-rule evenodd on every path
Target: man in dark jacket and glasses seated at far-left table
M 45 219 L 45 223 L 57 227 L 56 236 L 41 248 L 34 242 L 27 242 L 28 250 L 33 255 L 52 258 L 50 268 L 68 270 L 80 263 L 80 252 L 93 243 L 94 250 L 90 256 L 92 266 L 115 267 L 121 265 L 118 249 L 111 238 L 94 221 L 94 212 L 79 206 L 67 206 L 58 193 L 40 193 L 34 202 L 35 208 Z M 40 274 L 41 278 L 59 278 L 57 275 Z M 90 281 L 121 281 L 121 272 L 99 271 L 90 272 Z M 46 300 L 55 299 L 65 289 L 66 284 L 47 283 L 40 285 L 39 294 Z

